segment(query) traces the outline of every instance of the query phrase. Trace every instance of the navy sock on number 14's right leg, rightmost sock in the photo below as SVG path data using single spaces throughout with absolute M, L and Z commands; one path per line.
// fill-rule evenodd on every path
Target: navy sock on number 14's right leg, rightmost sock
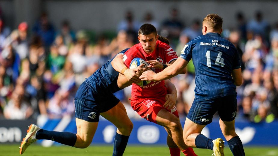
M 228 145 L 233 153 L 236 156 L 245 156 L 242 142 L 238 136 L 233 137 L 228 142 Z

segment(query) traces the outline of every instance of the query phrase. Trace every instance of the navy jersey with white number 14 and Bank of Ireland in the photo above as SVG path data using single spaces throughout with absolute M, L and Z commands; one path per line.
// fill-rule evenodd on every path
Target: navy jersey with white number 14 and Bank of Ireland
M 236 95 L 232 70 L 240 68 L 235 46 L 218 33 L 207 33 L 191 40 L 180 55 L 192 58 L 195 67 L 195 99 L 208 100 Z

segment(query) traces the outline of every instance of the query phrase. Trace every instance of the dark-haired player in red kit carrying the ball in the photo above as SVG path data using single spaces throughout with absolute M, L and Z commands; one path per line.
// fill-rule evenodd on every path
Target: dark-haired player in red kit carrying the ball
M 162 71 L 169 64 L 174 63 L 178 58 L 176 52 L 168 44 L 158 41 L 159 35 L 157 35 L 156 28 L 153 25 L 142 25 L 138 35 L 140 43 L 128 49 L 122 60 L 115 58 L 111 62 L 114 69 L 120 73 L 124 74 L 128 70 L 127 67 L 129 67 L 134 58 L 146 60 L 150 64 L 150 69 L 156 73 Z M 128 78 L 128 76 L 126 77 Z M 134 78 L 131 77 L 128 80 Z M 165 97 L 166 95 L 167 97 Z M 175 102 L 165 100 L 169 96 L 177 98 L 176 92 L 168 94 L 164 80 L 149 82 L 144 86 L 133 83 L 131 107 L 142 118 L 165 128 L 168 133 L 167 145 L 171 156 L 180 155 L 180 150 L 184 155 L 195 156 L 196 154 L 193 149 L 184 143 L 183 130 L 178 118 Z

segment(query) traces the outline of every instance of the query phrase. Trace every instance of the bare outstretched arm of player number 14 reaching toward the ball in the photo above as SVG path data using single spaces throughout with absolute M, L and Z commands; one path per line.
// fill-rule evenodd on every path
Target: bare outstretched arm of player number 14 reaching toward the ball
M 188 62 L 186 60 L 179 57 L 172 65 L 166 67 L 159 73 L 154 73 L 150 70 L 143 72 L 140 76 L 140 79 L 147 81 L 160 81 L 163 79 L 169 79 L 181 73 L 187 64 Z

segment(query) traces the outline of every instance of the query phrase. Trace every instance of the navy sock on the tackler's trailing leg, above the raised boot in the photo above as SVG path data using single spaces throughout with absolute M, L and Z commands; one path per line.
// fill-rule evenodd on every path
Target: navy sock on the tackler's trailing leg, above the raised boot
M 64 145 L 74 146 L 77 137 L 76 134 L 70 132 L 55 132 L 41 129 L 37 132 L 36 139 L 52 140 Z

